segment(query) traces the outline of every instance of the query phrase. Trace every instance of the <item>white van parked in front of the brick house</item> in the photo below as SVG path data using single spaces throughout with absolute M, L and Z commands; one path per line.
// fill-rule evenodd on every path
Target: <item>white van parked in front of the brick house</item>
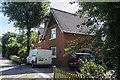
M 52 51 L 47 49 L 32 49 L 27 57 L 27 63 L 35 65 L 47 65 L 52 63 Z

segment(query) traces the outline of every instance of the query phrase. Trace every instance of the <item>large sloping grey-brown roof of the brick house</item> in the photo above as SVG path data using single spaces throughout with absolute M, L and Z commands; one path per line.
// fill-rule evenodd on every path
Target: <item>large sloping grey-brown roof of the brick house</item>
M 63 33 L 87 34 L 87 32 L 93 27 L 81 26 L 83 22 L 87 21 L 87 18 L 80 18 L 72 13 L 54 8 L 51 8 L 51 11 L 61 32 Z

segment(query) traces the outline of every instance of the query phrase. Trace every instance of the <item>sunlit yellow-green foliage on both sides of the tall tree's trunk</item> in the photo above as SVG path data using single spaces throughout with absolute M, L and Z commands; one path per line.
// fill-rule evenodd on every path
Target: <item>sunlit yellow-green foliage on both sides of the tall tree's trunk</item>
M 37 32 L 32 31 L 31 32 L 31 38 L 30 38 L 30 47 L 34 47 L 32 44 L 35 41 Z M 18 35 L 15 33 L 5 33 L 2 37 L 2 54 L 4 57 L 8 57 L 10 55 L 17 55 L 20 58 L 24 58 L 26 55 L 27 50 L 27 35 L 22 34 Z

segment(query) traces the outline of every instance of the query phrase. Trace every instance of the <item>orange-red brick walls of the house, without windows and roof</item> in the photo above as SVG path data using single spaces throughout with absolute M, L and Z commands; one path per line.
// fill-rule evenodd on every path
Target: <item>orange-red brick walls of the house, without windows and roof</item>
M 51 29 L 56 28 L 56 39 L 50 40 Z M 54 17 L 50 18 L 50 23 L 46 30 L 45 40 L 42 40 L 41 43 L 36 42 L 36 46 L 42 47 L 42 49 L 50 49 L 50 47 L 56 46 L 56 58 L 54 59 L 55 64 L 61 66 L 68 65 L 68 56 L 63 57 L 65 43 L 67 41 L 73 41 L 79 37 L 86 37 L 86 35 L 74 35 L 69 33 L 62 33 L 59 26 L 57 25 Z

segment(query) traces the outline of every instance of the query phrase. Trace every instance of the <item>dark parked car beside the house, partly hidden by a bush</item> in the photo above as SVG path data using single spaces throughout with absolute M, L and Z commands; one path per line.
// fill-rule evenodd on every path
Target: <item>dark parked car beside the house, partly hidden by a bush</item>
M 68 66 L 71 70 L 79 70 L 82 66 L 80 59 L 83 58 L 92 59 L 95 61 L 95 58 L 90 53 L 76 53 L 75 55 L 70 54 L 68 60 Z

